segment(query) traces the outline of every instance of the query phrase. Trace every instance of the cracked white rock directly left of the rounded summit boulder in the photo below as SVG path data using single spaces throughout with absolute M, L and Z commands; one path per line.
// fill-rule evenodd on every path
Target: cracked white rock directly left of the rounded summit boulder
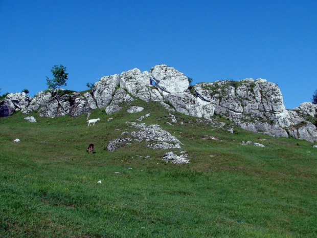
M 150 84 L 149 72 L 137 68 L 122 72 L 120 75 L 120 87 L 126 89 L 134 97 L 143 101 L 163 101 L 160 92 Z

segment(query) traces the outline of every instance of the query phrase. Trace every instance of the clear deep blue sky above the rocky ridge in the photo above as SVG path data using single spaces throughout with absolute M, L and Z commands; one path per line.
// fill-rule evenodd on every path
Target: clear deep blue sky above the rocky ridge
M 0 0 L 0 88 L 65 89 L 165 63 L 198 82 L 264 78 L 287 109 L 317 89 L 317 1 Z

